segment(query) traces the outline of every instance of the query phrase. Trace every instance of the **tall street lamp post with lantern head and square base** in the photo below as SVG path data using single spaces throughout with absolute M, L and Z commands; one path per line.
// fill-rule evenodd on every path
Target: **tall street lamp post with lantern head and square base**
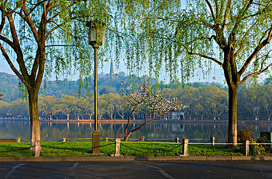
M 89 28 L 89 44 L 94 49 L 94 131 L 92 133 L 93 154 L 100 154 L 100 133 L 97 130 L 97 49 L 103 43 L 103 26 L 105 24 L 97 20 L 87 21 Z

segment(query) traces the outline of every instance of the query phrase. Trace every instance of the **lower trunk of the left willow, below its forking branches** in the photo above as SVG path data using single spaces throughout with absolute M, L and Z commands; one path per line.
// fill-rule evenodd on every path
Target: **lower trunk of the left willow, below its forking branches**
M 38 89 L 28 91 L 29 94 L 29 111 L 30 111 L 30 124 L 31 124 L 31 146 L 35 145 L 36 140 L 41 140 L 39 112 L 38 112 Z M 31 150 L 35 150 L 32 147 Z

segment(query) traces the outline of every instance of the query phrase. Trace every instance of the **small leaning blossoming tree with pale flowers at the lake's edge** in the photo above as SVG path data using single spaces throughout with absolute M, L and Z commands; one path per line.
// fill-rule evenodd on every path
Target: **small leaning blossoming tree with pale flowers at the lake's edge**
M 124 141 L 127 141 L 133 132 L 160 119 L 163 115 L 173 111 L 181 111 L 186 107 L 175 97 L 165 98 L 159 89 L 152 88 L 148 82 L 140 83 L 136 89 L 133 89 L 131 84 L 128 86 L 123 84 L 122 89 L 130 111 Z M 143 122 L 128 132 L 131 116 L 137 112 L 142 114 Z

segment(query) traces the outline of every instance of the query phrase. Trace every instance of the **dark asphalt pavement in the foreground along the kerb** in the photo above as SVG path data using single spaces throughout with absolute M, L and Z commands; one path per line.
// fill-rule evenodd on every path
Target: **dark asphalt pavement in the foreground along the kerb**
M 272 161 L 0 162 L 0 178 L 272 178 Z

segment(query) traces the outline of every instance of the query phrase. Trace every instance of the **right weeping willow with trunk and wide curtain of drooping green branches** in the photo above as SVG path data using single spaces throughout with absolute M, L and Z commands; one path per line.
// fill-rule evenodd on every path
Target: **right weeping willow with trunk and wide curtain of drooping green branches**
M 229 87 L 228 142 L 237 143 L 237 91 L 271 67 L 271 0 L 120 1 L 119 29 L 131 71 L 185 81 L 224 71 Z M 125 37 L 125 35 L 122 35 Z M 120 47 L 120 45 L 119 45 Z

